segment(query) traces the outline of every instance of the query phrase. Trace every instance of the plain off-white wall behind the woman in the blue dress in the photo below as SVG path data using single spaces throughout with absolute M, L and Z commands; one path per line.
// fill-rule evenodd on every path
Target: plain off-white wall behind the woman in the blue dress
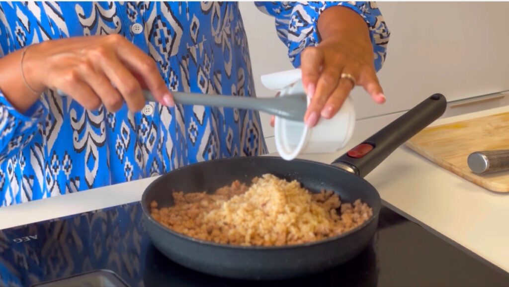
M 391 38 L 379 72 L 387 102 L 378 106 L 361 88 L 352 92 L 357 117 L 408 110 L 443 93 L 457 100 L 509 90 L 509 3 L 378 2 Z M 291 69 L 273 18 L 240 3 L 257 95 L 272 96 L 260 75 Z M 273 135 L 263 115 L 266 137 Z

